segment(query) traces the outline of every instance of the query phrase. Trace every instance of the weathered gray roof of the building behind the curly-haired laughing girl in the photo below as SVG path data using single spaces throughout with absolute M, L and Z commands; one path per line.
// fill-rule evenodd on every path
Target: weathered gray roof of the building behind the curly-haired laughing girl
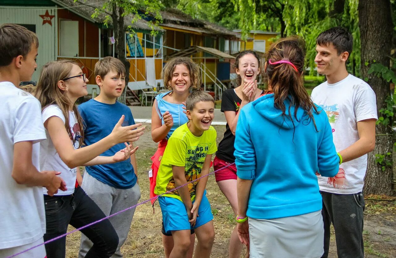
M 241 34 L 239 32 L 228 30 L 225 27 L 209 21 L 193 19 L 190 15 L 183 13 L 183 11 L 178 9 L 167 8 L 160 13 L 163 19 L 163 23 L 160 25 L 164 27 L 189 30 L 192 33 L 196 32 L 198 34 L 225 36 L 227 38 L 237 39 L 241 38 Z

